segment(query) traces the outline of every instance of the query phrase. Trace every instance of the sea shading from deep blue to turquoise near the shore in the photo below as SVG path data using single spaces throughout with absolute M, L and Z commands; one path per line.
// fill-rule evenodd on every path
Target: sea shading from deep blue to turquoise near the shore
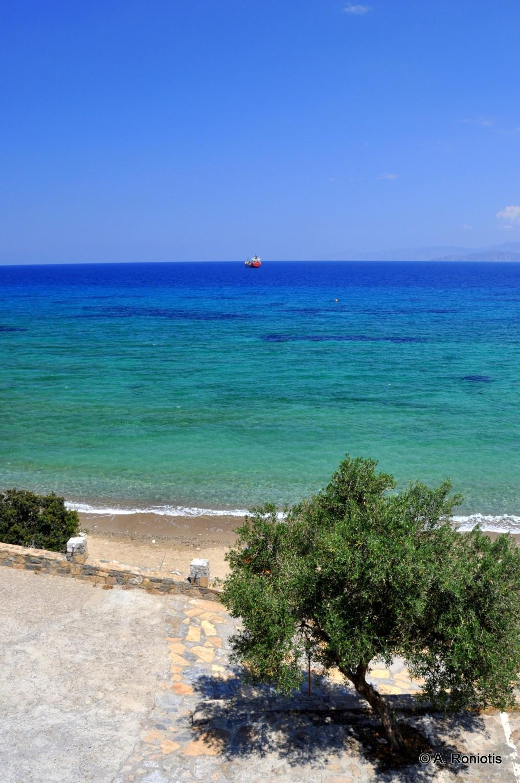
M 0 488 L 240 516 L 350 453 L 520 531 L 520 264 L 2 266 L 0 307 Z

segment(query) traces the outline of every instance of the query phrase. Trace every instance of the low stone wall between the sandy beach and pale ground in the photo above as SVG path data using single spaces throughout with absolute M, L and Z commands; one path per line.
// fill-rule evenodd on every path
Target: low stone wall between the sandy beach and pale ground
M 40 574 L 73 576 L 74 579 L 85 579 L 98 585 L 122 585 L 158 594 L 182 594 L 188 597 L 204 597 L 209 601 L 219 600 L 218 590 L 202 586 L 200 583 L 194 584 L 190 579 L 171 579 L 158 571 L 89 561 L 86 552 L 84 557 L 77 557 L 77 559 L 83 559 L 85 562 L 74 561 L 74 557 L 70 554 L 67 556 L 60 552 L 17 547 L 15 544 L 0 542 L 0 565 L 8 568 L 23 568 Z

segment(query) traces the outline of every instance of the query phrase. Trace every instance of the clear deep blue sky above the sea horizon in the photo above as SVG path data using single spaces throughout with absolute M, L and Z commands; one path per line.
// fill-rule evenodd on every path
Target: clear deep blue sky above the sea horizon
M 520 240 L 518 0 L 2 15 L 2 263 Z

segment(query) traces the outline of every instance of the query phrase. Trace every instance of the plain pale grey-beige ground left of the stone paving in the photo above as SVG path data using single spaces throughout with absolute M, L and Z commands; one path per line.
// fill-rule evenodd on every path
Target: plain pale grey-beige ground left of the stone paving
M 168 669 L 164 598 L 0 571 L 3 783 L 109 783 Z

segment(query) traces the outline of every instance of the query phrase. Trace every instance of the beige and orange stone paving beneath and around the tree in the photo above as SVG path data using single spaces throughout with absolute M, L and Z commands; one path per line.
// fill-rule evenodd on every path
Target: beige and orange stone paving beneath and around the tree
M 170 669 L 159 681 L 155 705 L 139 742 L 114 783 L 351 783 L 351 781 L 511 781 L 510 755 L 520 738 L 520 721 L 509 716 L 511 747 L 497 714 L 439 716 L 411 714 L 412 682 L 403 665 L 374 669 L 380 691 L 402 708 L 406 720 L 432 738 L 449 760 L 450 751 L 489 752 L 501 765 L 437 764 L 388 770 L 381 761 L 377 723 L 341 677 L 315 677 L 313 695 L 280 698 L 269 688 L 244 687 L 229 666 L 227 640 L 236 629 L 219 604 L 169 597 L 164 643 Z

